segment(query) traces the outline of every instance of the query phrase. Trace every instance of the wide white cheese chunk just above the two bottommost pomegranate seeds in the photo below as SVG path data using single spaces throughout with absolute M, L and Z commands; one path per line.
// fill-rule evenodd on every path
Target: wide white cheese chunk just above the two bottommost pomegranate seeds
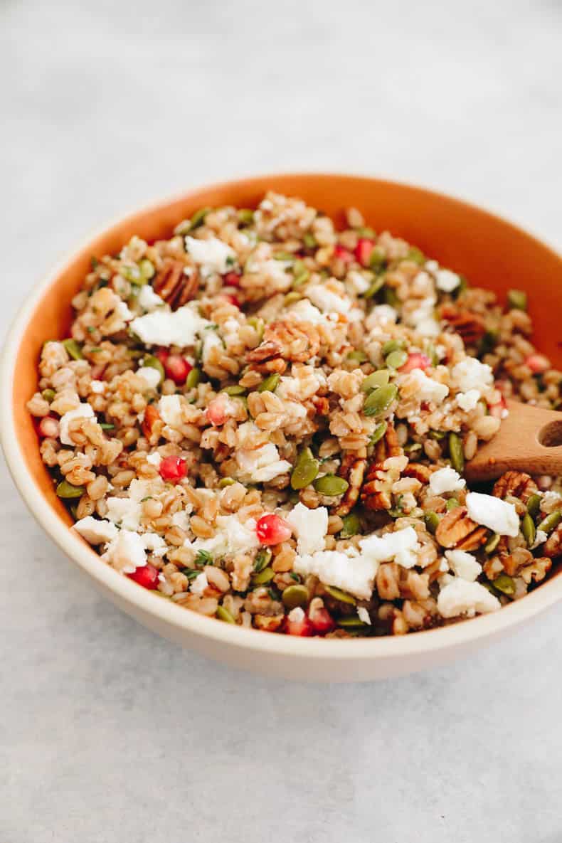
M 377 573 L 377 562 L 365 556 L 347 556 L 339 550 L 317 550 L 296 556 L 293 570 L 307 577 L 314 574 L 324 585 L 343 588 L 356 597 L 369 599 Z

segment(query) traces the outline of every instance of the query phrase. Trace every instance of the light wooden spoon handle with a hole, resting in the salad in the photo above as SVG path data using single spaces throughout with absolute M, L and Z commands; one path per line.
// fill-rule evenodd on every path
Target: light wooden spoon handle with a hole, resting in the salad
M 507 401 L 509 415 L 490 442 L 466 464 L 468 481 L 495 480 L 504 471 L 562 474 L 562 412 Z

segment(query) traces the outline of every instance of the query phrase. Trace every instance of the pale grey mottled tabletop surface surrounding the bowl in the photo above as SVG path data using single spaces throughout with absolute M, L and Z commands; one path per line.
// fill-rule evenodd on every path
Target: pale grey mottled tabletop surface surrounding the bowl
M 562 246 L 559 3 L 269 6 L 0 3 L 3 331 L 90 228 L 245 172 L 417 181 Z M 429 674 L 281 685 L 143 631 L 0 493 L 0 840 L 562 836 L 562 609 Z

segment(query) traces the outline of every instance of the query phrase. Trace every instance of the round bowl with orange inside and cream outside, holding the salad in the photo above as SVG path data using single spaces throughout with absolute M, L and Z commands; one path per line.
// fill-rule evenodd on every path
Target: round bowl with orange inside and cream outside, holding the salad
M 463 656 L 562 598 L 559 573 L 498 612 L 439 629 L 353 641 L 296 638 L 233 627 L 158 599 L 104 565 L 69 529 L 72 520 L 40 459 L 25 402 L 35 391 L 42 343 L 65 336 L 70 325 L 70 301 L 88 272 L 91 255 L 119 250 L 132 234 L 147 240 L 168 236 L 174 224 L 198 207 L 254 207 L 269 189 L 301 196 L 338 223 L 343 223 L 345 207 L 358 207 L 372 228 L 388 228 L 500 297 L 510 287 L 527 290 L 539 349 L 562 365 L 552 319 L 553 313 L 562 312 L 562 258 L 521 228 L 450 196 L 357 175 L 262 175 L 230 181 L 188 191 L 120 219 L 63 260 L 29 295 L 9 332 L 0 371 L 2 443 L 13 480 L 45 532 L 120 609 L 159 635 L 222 663 L 286 679 L 359 681 Z M 549 307 L 544 307 L 545 301 Z

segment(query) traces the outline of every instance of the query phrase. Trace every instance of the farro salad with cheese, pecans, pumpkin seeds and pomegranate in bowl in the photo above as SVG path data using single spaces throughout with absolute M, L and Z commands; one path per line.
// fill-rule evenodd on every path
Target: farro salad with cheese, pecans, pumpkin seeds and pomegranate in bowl
M 29 400 L 100 564 L 224 622 L 400 635 L 492 612 L 562 553 L 559 479 L 470 491 L 506 397 L 562 373 L 506 306 L 356 209 L 201 208 L 97 256 Z

